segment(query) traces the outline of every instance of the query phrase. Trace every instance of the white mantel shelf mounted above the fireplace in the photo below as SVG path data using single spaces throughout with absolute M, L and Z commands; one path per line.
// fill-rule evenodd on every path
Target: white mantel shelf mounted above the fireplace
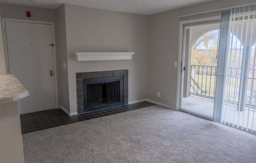
M 76 61 L 131 60 L 134 52 L 75 53 Z

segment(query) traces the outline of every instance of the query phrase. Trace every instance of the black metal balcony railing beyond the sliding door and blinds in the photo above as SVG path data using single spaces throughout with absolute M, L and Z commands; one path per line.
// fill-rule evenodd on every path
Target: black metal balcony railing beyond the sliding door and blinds
M 189 95 L 196 95 L 214 99 L 216 71 L 216 66 L 191 65 Z M 249 69 L 248 74 L 249 76 L 247 77 L 247 79 L 250 84 L 247 85 L 247 90 L 250 91 L 251 89 L 253 89 L 253 97 L 246 96 L 246 105 L 249 105 L 249 101 L 256 100 L 256 75 L 254 76 L 254 78 L 252 78 L 252 74 L 256 74 L 256 69 Z M 228 67 L 227 91 L 229 91 L 229 94 L 227 95 L 227 97 L 225 97 L 225 100 L 232 102 L 237 101 L 234 94 L 235 92 L 239 91 L 238 89 L 240 85 L 240 78 L 241 68 Z M 251 82 L 253 82 L 253 88 L 251 88 Z M 230 87 L 235 89 L 230 89 Z M 252 100 L 250 100 L 250 98 L 252 98 Z

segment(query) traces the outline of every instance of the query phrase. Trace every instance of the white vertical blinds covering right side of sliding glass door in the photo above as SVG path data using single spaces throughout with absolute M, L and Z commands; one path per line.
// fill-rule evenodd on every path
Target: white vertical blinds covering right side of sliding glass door
M 222 13 L 221 19 L 228 15 L 229 25 L 222 25 L 223 28 L 228 27 L 228 32 L 221 33 L 221 30 L 225 29 L 220 28 L 217 71 L 221 75 L 217 80 L 221 83 L 217 83 L 216 87 L 220 88 L 223 96 L 216 99 L 214 120 L 255 132 L 256 5 L 237 7 L 231 9 L 229 14 L 227 11 Z M 223 41 L 226 41 L 227 45 L 223 44 Z M 221 45 L 225 45 L 226 48 L 221 48 Z M 220 80 L 221 78 L 225 80 Z

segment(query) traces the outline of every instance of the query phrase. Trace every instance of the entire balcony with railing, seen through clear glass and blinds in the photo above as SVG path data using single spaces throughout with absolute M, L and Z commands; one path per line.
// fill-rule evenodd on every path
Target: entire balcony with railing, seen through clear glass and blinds
M 203 116 L 212 117 L 215 98 L 215 83 L 216 83 L 216 70 L 215 66 L 202 66 L 202 65 L 190 65 L 190 78 L 189 91 L 184 90 L 182 109 L 201 114 Z M 245 107 L 243 110 L 234 110 L 234 106 L 238 106 L 238 99 L 235 94 L 238 94 L 239 90 L 231 90 L 229 85 L 240 84 L 240 72 L 241 68 L 229 67 L 227 70 L 227 94 L 225 95 L 225 114 L 229 117 L 225 117 L 225 120 L 229 120 L 228 124 L 249 123 L 256 125 L 256 92 L 253 92 L 254 96 L 249 96 L 251 90 L 251 82 L 253 87 L 256 87 L 256 78 L 252 79 L 252 73 L 255 73 L 255 69 L 249 69 L 249 77 L 247 83 L 247 92 L 245 98 Z M 184 86 L 186 88 L 186 86 Z M 232 106 L 232 107 L 229 107 Z M 247 117 L 249 113 L 249 118 Z M 239 115 L 240 114 L 240 115 Z M 246 115 L 246 116 L 244 116 Z M 255 115 L 255 116 L 254 116 Z M 248 120 L 248 122 L 247 122 Z M 252 125 L 249 127 L 251 128 Z

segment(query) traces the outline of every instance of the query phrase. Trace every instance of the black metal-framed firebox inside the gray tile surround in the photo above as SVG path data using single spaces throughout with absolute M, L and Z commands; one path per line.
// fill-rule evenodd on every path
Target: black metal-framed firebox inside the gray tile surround
M 123 85 L 123 76 L 84 79 L 84 111 L 124 105 Z

